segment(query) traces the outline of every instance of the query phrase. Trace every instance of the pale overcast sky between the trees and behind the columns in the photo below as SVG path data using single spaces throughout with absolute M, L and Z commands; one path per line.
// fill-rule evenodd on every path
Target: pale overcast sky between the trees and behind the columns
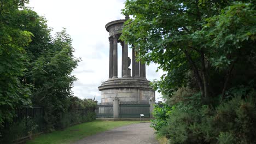
M 81 99 L 94 98 L 100 101 L 101 92 L 98 86 L 108 79 L 109 41 L 105 25 L 114 20 L 125 19 L 121 14 L 123 0 L 30 0 L 32 7 L 39 15 L 48 20 L 53 34 L 63 27 L 73 39 L 74 56 L 82 58 L 73 75 L 78 78 L 72 91 Z M 121 75 L 121 49 L 118 45 L 118 77 Z M 131 50 L 129 49 L 131 58 Z M 131 66 L 130 66 L 131 68 Z M 146 68 L 148 80 L 159 79 L 162 71 L 156 73 L 157 65 Z M 156 100 L 160 100 L 156 92 Z

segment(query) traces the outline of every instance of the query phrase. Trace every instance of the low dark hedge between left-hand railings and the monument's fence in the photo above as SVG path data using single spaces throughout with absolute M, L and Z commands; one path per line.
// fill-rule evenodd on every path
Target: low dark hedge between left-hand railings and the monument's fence
M 61 106 L 59 106 L 61 107 Z M 46 109 L 46 110 L 45 110 Z M 79 99 L 78 97 L 69 97 L 65 100 L 62 109 L 57 109 L 53 104 L 44 105 L 45 131 L 63 129 L 72 124 L 89 122 L 95 119 L 91 115 L 96 109 L 96 102 L 90 99 Z

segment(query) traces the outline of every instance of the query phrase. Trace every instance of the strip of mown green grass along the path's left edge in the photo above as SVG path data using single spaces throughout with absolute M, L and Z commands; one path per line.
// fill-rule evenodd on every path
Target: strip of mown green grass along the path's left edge
M 102 131 L 110 130 L 123 125 L 139 123 L 138 121 L 93 121 L 78 125 L 73 125 L 61 131 L 53 131 L 52 133 L 42 134 L 33 140 L 27 141 L 27 144 L 64 144 L 83 139 L 86 136 L 94 135 Z

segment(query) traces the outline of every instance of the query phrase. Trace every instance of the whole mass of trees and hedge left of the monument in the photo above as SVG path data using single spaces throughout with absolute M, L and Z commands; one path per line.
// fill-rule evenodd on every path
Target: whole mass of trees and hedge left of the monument
M 0 137 L 20 107 L 43 107 L 46 131 L 95 118 L 73 118 L 73 111 L 94 111 L 96 103 L 73 97 L 71 73 L 80 59 L 71 37 L 65 28 L 51 37 L 45 18 L 24 7 L 27 2 L 0 1 Z

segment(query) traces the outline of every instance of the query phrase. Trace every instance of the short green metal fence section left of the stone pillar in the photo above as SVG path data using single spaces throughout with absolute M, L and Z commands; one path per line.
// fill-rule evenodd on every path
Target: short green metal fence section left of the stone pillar
M 113 102 L 98 103 L 96 107 L 97 118 L 113 118 Z

